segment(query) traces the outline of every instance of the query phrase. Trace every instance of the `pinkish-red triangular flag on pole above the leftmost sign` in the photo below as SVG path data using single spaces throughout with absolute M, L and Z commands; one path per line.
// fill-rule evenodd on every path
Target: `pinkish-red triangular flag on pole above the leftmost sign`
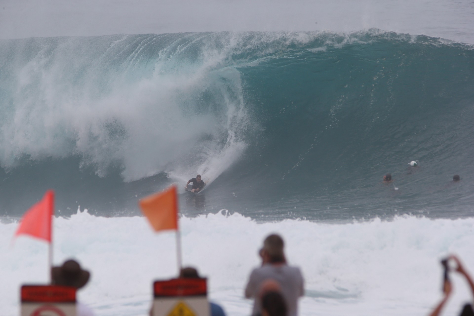
M 51 223 L 55 208 L 55 192 L 48 190 L 41 201 L 27 210 L 15 236 L 26 234 L 51 243 Z

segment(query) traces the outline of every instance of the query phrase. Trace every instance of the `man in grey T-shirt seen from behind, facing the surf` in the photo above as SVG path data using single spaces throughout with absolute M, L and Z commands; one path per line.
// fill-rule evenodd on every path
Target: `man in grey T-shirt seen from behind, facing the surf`
M 288 316 L 298 315 L 298 298 L 304 294 L 304 280 L 297 267 L 287 265 L 283 253 L 283 239 L 279 235 L 269 235 L 264 240 L 264 247 L 260 250 L 262 266 L 250 273 L 245 297 L 254 298 L 252 315 L 260 315 L 260 289 L 265 280 L 275 280 L 282 288 L 283 298 L 288 308 Z

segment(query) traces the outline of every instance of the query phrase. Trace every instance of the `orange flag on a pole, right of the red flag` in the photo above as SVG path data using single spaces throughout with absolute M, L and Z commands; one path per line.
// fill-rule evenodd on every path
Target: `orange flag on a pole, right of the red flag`
M 155 231 L 178 229 L 176 186 L 141 199 L 140 208 Z

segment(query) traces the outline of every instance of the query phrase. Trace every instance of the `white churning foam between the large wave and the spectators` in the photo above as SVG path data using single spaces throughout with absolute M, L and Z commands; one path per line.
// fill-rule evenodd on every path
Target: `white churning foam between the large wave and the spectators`
M 249 315 L 251 301 L 242 297 L 243 287 L 259 263 L 264 236 L 271 232 L 284 236 L 289 260 L 304 273 L 301 315 L 426 315 L 441 294 L 440 258 L 457 253 L 474 271 L 474 218 L 257 223 L 223 212 L 183 217 L 180 225 L 184 264 L 210 278 L 210 298 L 228 315 Z M 82 212 L 56 218 L 54 226 L 54 261 L 75 257 L 92 271 L 80 299 L 97 315 L 147 315 L 152 280 L 177 271 L 174 234 L 154 234 L 143 217 Z M 0 306 L 2 315 L 13 316 L 18 314 L 20 284 L 47 280 L 47 246 L 19 237 L 10 247 L 17 224 L 0 227 Z M 446 315 L 470 298 L 465 281 L 453 280 L 455 293 Z

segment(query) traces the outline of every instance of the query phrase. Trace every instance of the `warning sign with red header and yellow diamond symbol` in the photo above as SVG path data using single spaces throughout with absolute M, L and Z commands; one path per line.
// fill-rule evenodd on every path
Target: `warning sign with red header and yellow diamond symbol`
M 155 281 L 153 294 L 153 316 L 210 316 L 206 279 Z

